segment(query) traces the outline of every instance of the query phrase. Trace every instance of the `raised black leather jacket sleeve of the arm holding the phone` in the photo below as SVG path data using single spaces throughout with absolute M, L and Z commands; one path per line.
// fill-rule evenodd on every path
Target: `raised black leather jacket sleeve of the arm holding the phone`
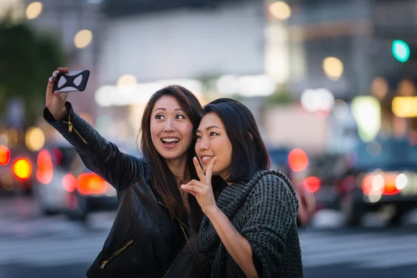
M 88 169 L 110 183 L 116 190 L 124 190 L 147 174 L 147 163 L 143 158 L 120 152 L 117 145 L 99 134 L 87 121 L 66 102 L 67 115 L 55 120 L 48 108 L 44 108 L 44 119 L 51 124 L 81 157 Z

